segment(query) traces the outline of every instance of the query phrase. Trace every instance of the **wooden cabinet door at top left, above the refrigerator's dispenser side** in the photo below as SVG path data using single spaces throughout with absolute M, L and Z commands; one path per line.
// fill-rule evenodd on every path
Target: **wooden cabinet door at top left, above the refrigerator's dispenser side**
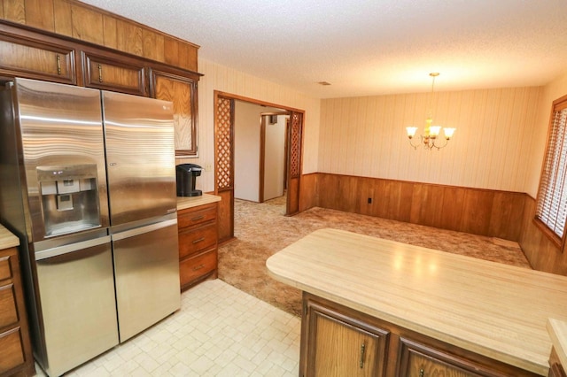
M 0 34 L 0 74 L 74 84 L 74 50 Z

